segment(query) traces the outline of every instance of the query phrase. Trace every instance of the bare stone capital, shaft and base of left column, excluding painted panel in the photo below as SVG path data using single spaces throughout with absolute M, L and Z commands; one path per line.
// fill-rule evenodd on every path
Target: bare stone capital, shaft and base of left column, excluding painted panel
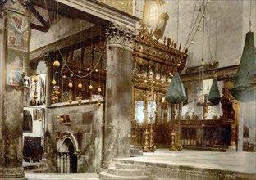
M 0 179 L 27 179 L 22 168 L 23 87 L 7 85 L 7 10 L 27 14 L 24 0 L 2 1 L 4 30 L 0 54 Z

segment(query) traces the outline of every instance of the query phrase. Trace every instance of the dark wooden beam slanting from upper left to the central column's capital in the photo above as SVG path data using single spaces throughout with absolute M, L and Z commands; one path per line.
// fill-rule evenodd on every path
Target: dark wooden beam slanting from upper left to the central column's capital
M 108 20 L 103 20 L 102 18 L 86 13 L 85 11 L 80 11 L 78 9 L 75 9 L 74 7 L 69 7 L 63 4 L 61 1 L 57 2 L 53 0 L 30 0 L 30 2 L 38 7 L 42 7 L 48 11 L 53 11 L 62 16 L 66 16 L 72 19 L 79 18 L 95 25 L 102 25 L 103 27 L 107 27 L 109 25 Z

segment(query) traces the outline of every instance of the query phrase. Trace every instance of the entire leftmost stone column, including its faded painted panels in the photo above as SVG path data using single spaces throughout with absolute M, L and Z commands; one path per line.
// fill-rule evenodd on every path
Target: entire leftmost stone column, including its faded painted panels
M 0 54 L 0 179 L 26 179 L 22 167 L 23 146 L 23 72 L 28 60 L 29 22 L 25 0 L 3 0 L 2 5 L 2 49 Z M 12 24 L 7 23 L 13 21 Z M 8 21 L 7 21 L 8 19 Z M 16 24 L 16 25 L 14 25 Z M 9 25 L 11 28 L 9 28 Z M 23 43 L 15 42 L 21 35 Z M 7 39 L 7 37 L 9 37 Z M 17 39 L 20 40 L 20 39 Z M 14 53 L 15 52 L 15 53 Z M 15 69 L 17 65 L 20 71 Z M 22 72 L 21 72 L 22 71 Z M 12 76 L 16 73 L 16 76 Z

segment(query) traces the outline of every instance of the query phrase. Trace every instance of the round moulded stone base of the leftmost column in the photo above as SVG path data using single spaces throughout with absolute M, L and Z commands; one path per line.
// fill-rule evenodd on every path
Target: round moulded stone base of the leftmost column
M 0 180 L 27 180 L 23 168 L 0 168 Z

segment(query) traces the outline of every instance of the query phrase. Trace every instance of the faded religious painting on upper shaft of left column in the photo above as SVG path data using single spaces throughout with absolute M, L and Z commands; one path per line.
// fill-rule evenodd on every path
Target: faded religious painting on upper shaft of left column
M 29 57 L 29 16 L 7 11 L 7 84 L 24 84 Z

